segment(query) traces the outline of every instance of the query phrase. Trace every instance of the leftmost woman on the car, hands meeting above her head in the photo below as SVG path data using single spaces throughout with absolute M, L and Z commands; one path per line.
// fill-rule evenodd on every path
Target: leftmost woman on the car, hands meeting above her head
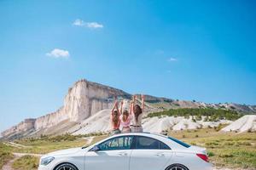
M 115 100 L 113 109 L 111 111 L 111 116 L 110 116 L 111 127 L 112 127 L 111 135 L 121 133 L 119 129 L 120 127 L 119 116 L 120 116 L 119 106 L 118 106 L 117 100 Z

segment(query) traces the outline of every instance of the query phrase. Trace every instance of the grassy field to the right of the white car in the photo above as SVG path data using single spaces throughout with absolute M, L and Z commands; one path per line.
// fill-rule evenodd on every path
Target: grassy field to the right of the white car
M 206 147 L 217 167 L 256 169 L 256 133 L 219 133 L 215 129 L 170 132 L 169 135 L 189 144 Z

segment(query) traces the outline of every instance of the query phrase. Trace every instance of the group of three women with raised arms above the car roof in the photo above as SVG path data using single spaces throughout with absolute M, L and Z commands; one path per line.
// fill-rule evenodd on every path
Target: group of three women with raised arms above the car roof
M 130 109 L 123 109 L 124 102 L 121 101 L 120 109 L 117 99 L 114 102 L 113 109 L 111 111 L 111 134 L 118 133 L 142 133 L 142 121 L 143 121 L 143 109 L 144 109 L 144 95 L 142 94 L 141 105 L 135 103 L 136 96 L 133 96 Z M 120 130 L 121 129 L 121 130 Z

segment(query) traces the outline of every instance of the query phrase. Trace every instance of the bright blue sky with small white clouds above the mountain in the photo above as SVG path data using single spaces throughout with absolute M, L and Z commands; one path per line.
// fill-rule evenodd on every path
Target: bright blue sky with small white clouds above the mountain
M 0 131 L 80 78 L 128 93 L 256 104 L 256 4 L 0 1 Z

